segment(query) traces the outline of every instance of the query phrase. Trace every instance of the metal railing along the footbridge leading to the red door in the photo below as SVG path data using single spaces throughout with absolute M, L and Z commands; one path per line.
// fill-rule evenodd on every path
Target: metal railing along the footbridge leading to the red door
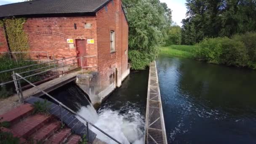
M 12 75 L 14 73 L 19 73 L 19 75 L 22 75 L 24 78 L 28 78 L 30 81 L 33 82 L 35 85 L 39 85 L 41 83 L 47 82 L 49 80 L 56 79 L 58 77 L 61 77 L 62 75 L 65 75 L 71 71 L 74 71 L 75 69 L 81 68 L 82 72 L 85 68 L 91 68 L 96 66 L 88 66 L 83 67 L 79 66 L 79 61 L 81 64 L 83 64 L 84 59 L 93 58 L 95 56 L 83 56 L 83 57 L 76 57 L 71 56 L 65 59 L 59 59 L 59 60 L 53 60 L 49 62 L 44 62 L 40 64 L 32 64 L 25 67 L 19 67 L 15 69 L 9 69 L 0 72 L 0 75 L 5 75 L 8 81 L 1 81 L 0 86 L 4 86 L 7 84 L 14 84 L 12 87 L 15 86 L 16 93 L 19 95 L 18 86 L 23 86 L 22 88 L 28 89 L 31 87 L 31 85 L 24 85 L 24 83 L 15 83 L 15 77 Z M 29 70 L 28 70 L 29 69 Z M 13 91 L 14 92 L 14 91 Z M 20 98 L 20 101 L 22 99 Z

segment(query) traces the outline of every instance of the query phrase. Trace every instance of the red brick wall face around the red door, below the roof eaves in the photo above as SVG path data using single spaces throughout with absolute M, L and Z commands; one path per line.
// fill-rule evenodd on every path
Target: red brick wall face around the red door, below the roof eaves
M 85 23 L 92 24 L 91 29 L 85 29 Z M 67 39 L 83 39 L 86 43 L 87 55 L 98 54 L 96 18 L 93 16 L 30 18 L 24 24 L 24 31 L 29 35 L 30 51 L 47 51 L 51 59 L 53 53 L 55 59 L 77 56 L 76 49 L 69 48 Z M 86 39 L 94 39 L 95 43 L 88 44 Z M 88 66 L 95 65 L 97 65 L 97 57 L 88 59 Z

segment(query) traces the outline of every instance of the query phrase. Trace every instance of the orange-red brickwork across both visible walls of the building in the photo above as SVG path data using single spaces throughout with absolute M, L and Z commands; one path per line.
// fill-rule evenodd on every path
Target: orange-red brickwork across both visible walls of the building
M 110 51 L 110 31 L 115 31 L 115 52 Z M 77 56 L 76 48 L 70 48 L 67 39 L 85 40 L 86 54 L 96 56 L 88 59 L 88 66 L 97 66 L 93 70 L 99 72 L 102 89 L 119 87 L 127 73 L 128 22 L 121 0 L 112 0 L 96 16 L 28 18 L 24 32 L 29 36 L 29 50 L 47 51 L 50 59 L 53 54 L 55 59 Z M 87 39 L 94 39 L 94 44 L 88 44 Z M 5 45 L 0 48 L 3 51 Z

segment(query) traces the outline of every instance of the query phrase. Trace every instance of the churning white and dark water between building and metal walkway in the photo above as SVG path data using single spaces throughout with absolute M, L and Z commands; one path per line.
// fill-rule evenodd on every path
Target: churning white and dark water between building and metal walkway
M 148 76 L 148 69 L 131 71 L 122 86 L 113 91 L 99 109 L 93 108 L 75 83 L 64 85 L 50 92 L 50 95 L 122 144 L 144 144 Z M 52 101 L 47 96 L 41 98 Z M 97 134 L 98 139 L 116 144 L 95 128 L 89 128 Z

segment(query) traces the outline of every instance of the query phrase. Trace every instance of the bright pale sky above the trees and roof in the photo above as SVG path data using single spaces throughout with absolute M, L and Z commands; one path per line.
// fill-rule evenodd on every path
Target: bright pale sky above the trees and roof
M 9 3 L 17 3 L 24 0 L 0 0 L 0 5 L 5 5 Z M 187 8 L 185 6 L 186 0 L 160 0 L 162 3 L 167 3 L 168 7 L 171 8 L 172 19 L 179 26 L 182 26 L 182 19 L 186 18 Z

